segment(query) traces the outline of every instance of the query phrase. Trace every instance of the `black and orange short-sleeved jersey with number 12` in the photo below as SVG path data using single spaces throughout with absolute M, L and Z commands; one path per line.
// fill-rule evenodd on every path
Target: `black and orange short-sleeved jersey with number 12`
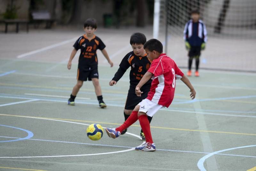
M 98 68 L 97 49 L 103 50 L 106 45 L 95 35 L 91 40 L 89 40 L 86 35 L 82 35 L 76 40 L 73 47 L 76 51 L 81 49 L 78 68 L 92 70 Z

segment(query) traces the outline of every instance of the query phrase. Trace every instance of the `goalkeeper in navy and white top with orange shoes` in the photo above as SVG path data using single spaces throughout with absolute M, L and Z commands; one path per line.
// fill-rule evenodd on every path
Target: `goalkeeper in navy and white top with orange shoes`
M 199 57 L 201 50 L 205 49 L 207 41 L 207 31 L 202 20 L 199 19 L 200 13 L 198 10 L 191 11 L 191 19 L 186 23 L 184 29 L 185 46 L 188 50 L 188 76 L 191 76 L 191 66 L 193 58 L 196 59 L 195 76 L 199 76 Z

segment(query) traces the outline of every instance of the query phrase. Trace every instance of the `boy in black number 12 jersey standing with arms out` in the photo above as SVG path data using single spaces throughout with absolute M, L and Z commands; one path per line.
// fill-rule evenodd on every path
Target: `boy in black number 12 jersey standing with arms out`
M 84 22 L 84 31 L 85 34 L 79 37 L 76 43 L 73 45 L 74 49 L 71 52 L 69 61 L 68 61 L 68 69 L 71 68 L 71 61 L 75 57 L 78 49 L 81 49 L 81 53 L 78 61 L 78 69 L 77 69 L 77 83 L 74 86 L 70 98 L 68 99 L 68 105 L 75 105 L 76 94 L 79 89 L 82 87 L 83 82 L 92 81 L 96 96 L 99 101 L 99 106 L 101 108 L 107 107 L 104 103 L 101 88 L 99 84 L 99 73 L 98 73 L 98 58 L 96 51 L 100 49 L 104 57 L 108 60 L 110 66 L 113 66 L 113 62 L 109 59 L 108 53 L 105 50 L 105 44 L 100 40 L 99 37 L 94 35 L 94 32 L 97 29 L 97 23 L 95 19 L 87 19 Z

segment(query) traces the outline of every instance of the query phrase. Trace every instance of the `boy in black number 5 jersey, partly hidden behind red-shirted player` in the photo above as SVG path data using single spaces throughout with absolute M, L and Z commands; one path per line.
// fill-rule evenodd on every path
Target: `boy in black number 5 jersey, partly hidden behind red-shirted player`
M 119 68 L 112 80 L 109 82 L 110 86 L 113 86 L 120 80 L 124 75 L 125 71 L 131 67 L 130 71 L 130 88 L 128 91 L 125 107 L 124 107 L 124 120 L 127 120 L 134 107 L 148 96 L 148 91 L 151 87 L 152 80 L 150 79 L 146 84 L 144 84 L 141 89 L 143 93 L 141 97 L 135 94 L 136 85 L 140 82 L 143 75 L 148 71 L 151 61 L 147 58 L 147 54 L 143 48 L 143 44 L 146 43 L 146 36 L 142 33 L 134 33 L 131 36 L 130 44 L 132 45 L 131 52 L 127 53 L 119 65 Z M 148 116 L 149 123 L 152 117 Z M 125 129 L 121 134 L 125 134 L 127 129 Z M 145 140 L 144 133 L 141 129 L 140 137 Z

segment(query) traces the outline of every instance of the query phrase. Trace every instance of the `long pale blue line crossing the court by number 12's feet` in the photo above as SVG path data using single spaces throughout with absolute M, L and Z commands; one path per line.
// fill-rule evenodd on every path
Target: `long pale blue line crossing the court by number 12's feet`
M 12 96 L 12 95 L 7 95 L 7 96 L 2 96 L 4 95 L 3 93 L 0 93 L 0 97 L 3 98 L 17 98 L 17 99 L 39 99 L 42 101 L 50 101 L 50 102 L 62 102 L 62 103 L 67 103 L 67 100 L 63 100 L 63 99 L 56 99 L 56 98 L 28 98 L 28 97 L 24 97 L 24 96 Z M 86 105 L 99 105 L 97 102 L 88 102 L 88 101 L 81 101 L 81 100 L 76 100 L 77 104 L 86 104 Z M 118 105 L 116 103 L 108 103 L 108 106 L 115 106 L 115 107 L 124 107 L 124 105 Z M 188 110 L 182 110 L 182 109 L 172 109 L 172 107 L 170 108 L 162 108 L 160 110 L 163 111 L 173 111 L 173 112 L 182 112 L 182 113 L 199 113 L 199 114 L 207 114 L 207 115 L 219 115 L 219 116 L 234 116 L 234 117 L 248 117 L 248 118 L 256 118 L 256 116 L 253 115 L 235 115 L 235 114 L 225 114 L 225 113 L 209 113 L 209 112 L 195 112 L 195 111 L 188 111 Z

